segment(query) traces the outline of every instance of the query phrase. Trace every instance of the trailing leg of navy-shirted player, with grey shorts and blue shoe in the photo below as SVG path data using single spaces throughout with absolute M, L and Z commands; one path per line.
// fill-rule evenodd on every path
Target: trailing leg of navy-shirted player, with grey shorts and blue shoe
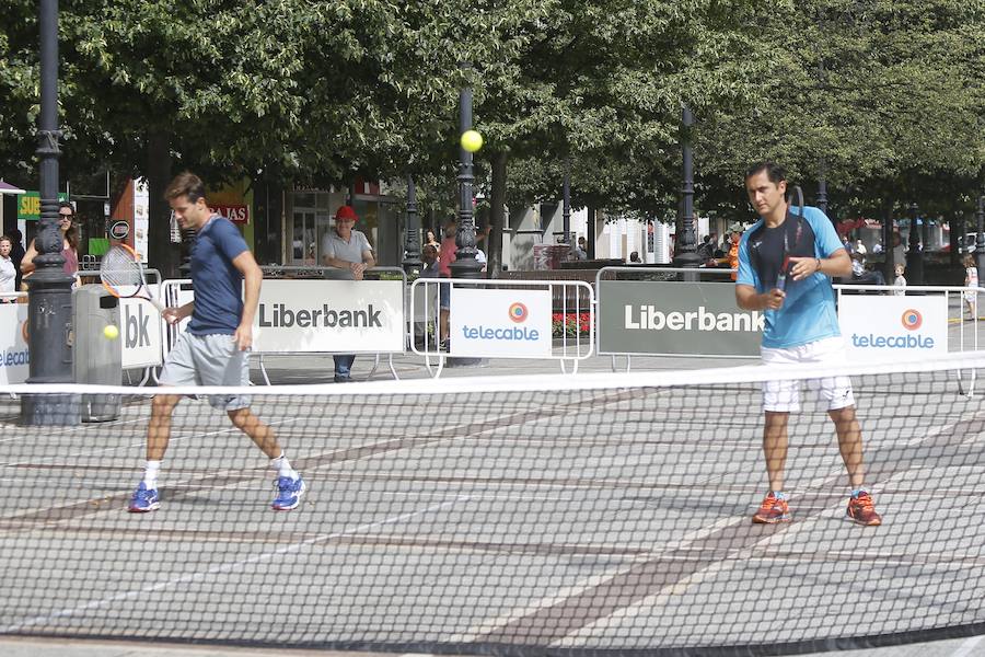
M 250 354 L 241 351 L 231 335 L 202 336 L 196 351 L 199 376 L 206 385 L 250 384 Z M 277 497 L 271 505 L 277 510 L 290 510 L 300 504 L 306 488 L 301 475 L 291 468 L 269 425 L 250 411 L 245 395 L 209 395 L 213 408 L 225 411 L 230 420 L 263 450 L 277 471 Z

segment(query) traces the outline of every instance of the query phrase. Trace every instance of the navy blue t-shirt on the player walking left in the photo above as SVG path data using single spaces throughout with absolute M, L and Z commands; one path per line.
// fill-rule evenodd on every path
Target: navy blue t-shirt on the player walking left
M 243 316 L 243 275 L 232 261 L 247 250 L 246 241 L 224 217 L 212 215 L 192 243 L 192 285 L 195 310 L 188 322 L 193 335 L 232 335 Z

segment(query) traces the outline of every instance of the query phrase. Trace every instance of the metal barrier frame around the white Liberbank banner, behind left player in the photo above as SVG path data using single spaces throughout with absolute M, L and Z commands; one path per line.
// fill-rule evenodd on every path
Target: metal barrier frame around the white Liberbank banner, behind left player
M 269 280 L 285 280 L 285 279 L 299 279 L 299 280 L 331 280 L 338 279 L 339 269 L 335 267 L 311 267 L 311 266 L 264 266 L 260 267 L 264 272 L 264 278 Z M 343 273 L 345 274 L 345 273 Z M 403 289 L 407 289 L 407 278 L 406 274 L 399 267 L 373 267 L 372 269 L 367 269 L 364 273 L 364 277 L 367 280 L 394 280 L 401 281 Z M 183 306 L 188 301 L 194 299 L 194 288 L 192 286 L 190 279 L 174 279 L 174 280 L 165 280 L 164 289 L 162 291 L 162 298 L 166 306 Z M 402 302 L 402 313 L 403 316 L 407 316 L 407 299 L 406 295 L 404 295 Z M 166 339 L 166 350 L 170 351 L 174 345 L 177 343 L 178 337 L 181 336 L 182 331 L 184 330 L 187 320 L 184 320 L 179 324 L 169 325 L 167 326 L 167 339 Z M 406 325 L 403 328 L 404 338 L 403 344 L 406 345 L 406 335 L 407 330 Z M 346 350 L 345 348 L 340 350 L 320 350 L 320 351 L 276 351 L 278 356 L 310 356 L 312 353 L 325 354 L 325 355 L 335 355 L 335 354 L 349 354 L 351 351 Z M 367 378 L 371 379 L 375 376 L 376 370 L 380 367 L 380 357 L 383 354 L 386 354 L 387 357 L 387 367 L 390 369 L 390 373 L 394 379 L 399 379 L 397 374 L 396 367 L 393 362 L 394 354 L 403 354 L 404 348 L 398 351 L 380 351 L 373 354 L 373 366 L 370 369 Z M 264 379 L 264 383 L 266 385 L 270 385 L 270 377 L 267 372 L 267 362 L 265 356 L 269 354 L 260 350 L 254 349 L 251 353 L 251 356 L 256 357 L 257 366 L 260 370 L 260 376 Z

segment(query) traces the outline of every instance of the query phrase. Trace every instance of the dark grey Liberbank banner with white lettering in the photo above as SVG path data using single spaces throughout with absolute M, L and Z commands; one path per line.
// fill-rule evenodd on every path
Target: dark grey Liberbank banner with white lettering
M 599 351 L 758 356 L 764 316 L 720 283 L 599 281 Z

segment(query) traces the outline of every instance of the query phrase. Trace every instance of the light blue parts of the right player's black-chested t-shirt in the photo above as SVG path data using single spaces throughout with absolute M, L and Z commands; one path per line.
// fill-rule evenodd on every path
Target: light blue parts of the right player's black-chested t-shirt
M 831 257 L 836 251 L 844 249 L 837 231 L 820 208 L 806 206 L 803 217 L 814 233 L 814 257 Z M 760 219 L 745 231 L 739 242 L 739 274 L 735 279 L 737 285 L 750 285 L 761 295 L 767 289 L 751 262 L 749 239 L 762 226 L 763 219 Z M 827 276 L 815 273 L 803 280 L 795 281 L 790 278 L 787 280 L 786 292 L 783 308 L 763 313 L 764 347 L 799 347 L 842 334 L 835 310 L 834 289 Z

